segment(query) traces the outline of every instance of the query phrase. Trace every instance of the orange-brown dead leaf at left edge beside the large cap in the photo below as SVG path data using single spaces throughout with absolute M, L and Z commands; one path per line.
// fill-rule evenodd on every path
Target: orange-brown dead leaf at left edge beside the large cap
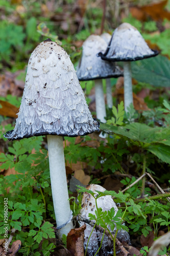
M 19 108 L 4 100 L 0 100 L 0 104 L 2 106 L 0 108 L 0 115 L 17 118 L 16 113 Z

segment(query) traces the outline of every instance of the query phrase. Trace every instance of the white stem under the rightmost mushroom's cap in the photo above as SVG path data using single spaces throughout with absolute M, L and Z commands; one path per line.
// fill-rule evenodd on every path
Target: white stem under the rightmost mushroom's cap
M 127 108 L 131 103 L 133 104 L 131 62 L 124 61 L 124 104 L 126 112 L 128 112 Z

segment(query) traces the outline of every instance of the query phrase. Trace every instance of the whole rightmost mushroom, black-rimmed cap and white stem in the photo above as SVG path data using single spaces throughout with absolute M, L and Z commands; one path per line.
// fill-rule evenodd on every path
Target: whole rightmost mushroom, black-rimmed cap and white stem
M 98 55 L 104 60 L 124 61 L 125 111 L 133 103 L 131 62 L 154 57 L 158 51 L 151 50 L 139 31 L 129 23 L 123 23 L 112 34 L 106 52 Z

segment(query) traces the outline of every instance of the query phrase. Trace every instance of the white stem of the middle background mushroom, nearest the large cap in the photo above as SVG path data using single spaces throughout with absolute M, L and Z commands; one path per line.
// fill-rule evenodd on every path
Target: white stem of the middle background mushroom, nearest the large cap
M 106 106 L 103 93 L 102 79 L 95 80 L 95 108 L 96 117 L 103 123 L 106 123 Z

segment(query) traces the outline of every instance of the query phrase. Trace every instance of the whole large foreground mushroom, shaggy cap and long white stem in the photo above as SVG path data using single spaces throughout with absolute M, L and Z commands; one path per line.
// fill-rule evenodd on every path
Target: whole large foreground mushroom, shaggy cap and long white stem
M 94 131 L 99 131 L 99 124 L 92 119 L 68 54 L 51 39 L 41 42 L 29 59 L 15 128 L 5 137 L 15 140 L 47 135 L 60 238 L 72 228 L 62 136 L 83 136 Z

